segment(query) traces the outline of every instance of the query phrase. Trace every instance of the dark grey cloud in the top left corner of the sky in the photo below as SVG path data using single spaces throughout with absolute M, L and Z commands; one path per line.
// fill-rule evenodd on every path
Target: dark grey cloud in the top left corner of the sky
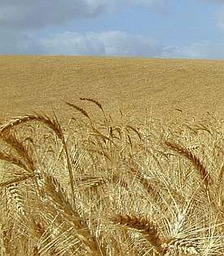
M 97 16 L 107 7 L 106 0 L 3 0 L 0 27 L 33 29 L 63 25 L 80 16 Z

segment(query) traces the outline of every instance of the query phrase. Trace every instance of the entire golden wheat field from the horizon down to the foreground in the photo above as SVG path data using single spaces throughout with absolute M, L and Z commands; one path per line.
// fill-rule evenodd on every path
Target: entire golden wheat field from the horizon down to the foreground
M 223 255 L 223 68 L 1 56 L 0 255 Z

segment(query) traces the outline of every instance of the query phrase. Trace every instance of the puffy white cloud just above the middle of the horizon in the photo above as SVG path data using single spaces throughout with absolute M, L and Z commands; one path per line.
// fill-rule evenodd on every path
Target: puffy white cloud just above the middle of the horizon
M 150 37 L 121 31 L 78 34 L 66 32 L 42 38 L 48 54 L 105 55 L 105 56 L 158 56 L 160 47 Z

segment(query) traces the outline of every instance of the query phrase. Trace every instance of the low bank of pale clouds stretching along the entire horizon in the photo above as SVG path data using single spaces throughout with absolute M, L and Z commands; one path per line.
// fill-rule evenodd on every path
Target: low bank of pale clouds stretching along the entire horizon
M 223 59 L 222 43 L 209 41 L 190 45 L 162 46 L 154 38 L 123 31 L 86 34 L 64 32 L 37 37 L 36 34 L 7 34 L 0 41 L 0 53 L 90 56 L 144 56 L 164 58 Z M 9 43 L 10 42 L 10 43 Z M 16 42 L 16 43 L 15 43 Z

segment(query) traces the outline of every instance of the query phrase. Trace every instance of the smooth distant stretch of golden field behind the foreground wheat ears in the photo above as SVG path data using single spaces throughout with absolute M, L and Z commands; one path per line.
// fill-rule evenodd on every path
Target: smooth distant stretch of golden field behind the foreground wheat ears
M 115 118 L 122 110 L 132 121 L 208 111 L 222 118 L 223 71 L 224 61 L 0 56 L 0 120 L 53 108 L 70 117 L 64 101 L 79 104 L 79 97 L 100 101 Z

